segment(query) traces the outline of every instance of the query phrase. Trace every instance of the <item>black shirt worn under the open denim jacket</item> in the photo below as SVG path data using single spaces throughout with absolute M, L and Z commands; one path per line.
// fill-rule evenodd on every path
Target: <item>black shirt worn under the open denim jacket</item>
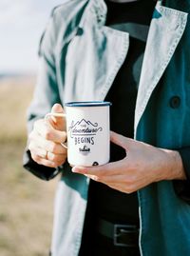
M 153 10 L 153 1 L 113 3 L 106 1 L 106 26 L 129 32 L 129 49 L 106 99 L 112 102 L 110 127 L 126 137 L 134 137 L 134 112 L 142 69 L 142 58 Z M 123 159 L 123 148 L 111 144 L 110 161 Z M 113 223 L 139 225 L 137 193 L 126 194 L 91 181 L 89 206 L 96 218 Z

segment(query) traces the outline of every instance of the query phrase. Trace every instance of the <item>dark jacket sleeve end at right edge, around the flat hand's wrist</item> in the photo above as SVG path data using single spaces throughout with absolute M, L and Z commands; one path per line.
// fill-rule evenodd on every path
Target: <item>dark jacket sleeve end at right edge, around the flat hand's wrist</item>
M 186 181 L 174 181 L 174 188 L 180 199 L 190 205 L 190 147 L 178 149 L 187 177 Z

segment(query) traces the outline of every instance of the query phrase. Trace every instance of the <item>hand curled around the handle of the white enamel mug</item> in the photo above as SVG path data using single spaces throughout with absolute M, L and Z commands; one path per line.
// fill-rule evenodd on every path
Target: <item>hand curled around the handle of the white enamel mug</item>
M 61 105 L 55 104 L 51 112 L 64 112 Z M 29 134 L 28 149 L 32 159 L 39 165 L 59 167 L 66 162 L 66 148 L 60 143 L 66 141 L 66 120 L 64 117 L 49 117 L 34 123 Z

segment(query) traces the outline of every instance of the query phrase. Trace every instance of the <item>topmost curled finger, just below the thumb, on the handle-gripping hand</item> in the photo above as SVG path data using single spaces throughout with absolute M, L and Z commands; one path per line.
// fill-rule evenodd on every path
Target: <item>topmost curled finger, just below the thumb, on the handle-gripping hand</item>
M 57 130 L 49 126 L 45 120 L 34 123 L 34 130 L 48 141 L 62 143 L 66 141 L 66 131 Z

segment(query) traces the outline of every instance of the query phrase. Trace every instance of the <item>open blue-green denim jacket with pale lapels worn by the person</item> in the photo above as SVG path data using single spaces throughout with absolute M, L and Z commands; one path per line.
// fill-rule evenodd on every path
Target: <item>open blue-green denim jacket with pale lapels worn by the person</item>
M 190 146 L 189 10 L 189 0 L 158 1 L 148 33 L 134 134 L 159 148 Z M 104 100 L 129 46 L 128 33 L 107 28 L 105 18 L 104 0 L 68 0 L 53 11 L 41 42 L 28 130 L 54 103 Z M 41 168 L 36 164 L 33 172 Z M 53 256 L 78 255 L 88 184 L 65 165 L 55 199 Z M 173 182 L 153 183 L 138 195 L 142 256 L 190 255 L 190 206 Z

